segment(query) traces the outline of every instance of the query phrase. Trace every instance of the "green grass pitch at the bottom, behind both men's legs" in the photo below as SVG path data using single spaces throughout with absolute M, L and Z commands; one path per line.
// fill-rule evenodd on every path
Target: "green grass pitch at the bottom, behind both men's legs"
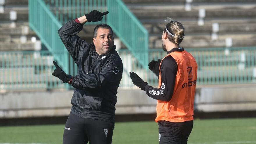
M 0 127 L 0 144 L 61 144 L 65 125 Z M 116 122 L 113 144 L 157 144 L 156 122 Z M 188 144 L 256 144 L 256 118 L 194 120 Z

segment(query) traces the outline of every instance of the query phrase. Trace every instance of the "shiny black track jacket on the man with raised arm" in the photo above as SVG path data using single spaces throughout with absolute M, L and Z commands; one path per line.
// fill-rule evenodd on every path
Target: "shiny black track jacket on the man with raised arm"
M 123 64 L 115 45 L 108 54 L 99 55 L 94 44 L 81 40 L 77 33 L 83 24 L 71 20 L 58 33 L 78 66 L 78 74 L 70 83 L 75 89 L 71 112 L 82 118 L 115 121 L 117 88 Z

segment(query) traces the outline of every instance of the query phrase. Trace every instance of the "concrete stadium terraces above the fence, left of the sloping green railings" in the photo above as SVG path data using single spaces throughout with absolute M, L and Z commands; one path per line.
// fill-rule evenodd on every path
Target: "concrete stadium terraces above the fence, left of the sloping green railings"
M 36 37 L 29 29 L 28 1 L 6 0 L 0 13 L 0 51 L 34 50 L 31 37 Z

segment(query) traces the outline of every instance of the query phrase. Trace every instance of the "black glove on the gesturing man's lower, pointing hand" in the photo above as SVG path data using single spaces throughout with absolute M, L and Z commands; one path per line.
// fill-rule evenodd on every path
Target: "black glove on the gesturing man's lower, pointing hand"
M 63 83 L 68 83 L 70 81 L 70 79 L 72 79 L 72 76 L 67 75 L 59 66 L 58 64 L 53 61 L 53 64 L 55 65 L 56 69 L 53 71 L 53 73 L 51 73 L 52 75 L 54 75 L 55 77 L 61 79 L 63 81 Z

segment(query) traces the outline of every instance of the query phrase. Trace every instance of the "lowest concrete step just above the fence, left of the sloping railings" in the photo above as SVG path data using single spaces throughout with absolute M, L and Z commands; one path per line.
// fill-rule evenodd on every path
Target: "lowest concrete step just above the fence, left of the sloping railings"
M 0 43 L 0 51 L 28 51 L 28 50 L 34 50 L 35 49 L 35 43 L 28 41 L 24 44 L 22 43 Z

